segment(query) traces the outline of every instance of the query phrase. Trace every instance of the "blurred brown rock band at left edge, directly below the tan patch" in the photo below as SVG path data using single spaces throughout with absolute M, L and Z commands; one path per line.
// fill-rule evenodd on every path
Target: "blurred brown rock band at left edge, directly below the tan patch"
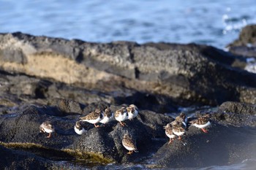
M 63 115 L 82 114 L 86 104 L 99 101 L 110 103 L 114 98 L 97 90 L 72 87 L 54 80 L 0 72 L 0 114 L 29 104 L 54 105 Z

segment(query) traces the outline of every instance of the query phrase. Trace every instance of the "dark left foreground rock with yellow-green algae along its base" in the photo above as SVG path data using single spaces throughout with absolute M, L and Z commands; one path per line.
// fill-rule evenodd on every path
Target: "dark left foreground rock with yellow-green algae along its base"
M 87 107 L 95 110 L 103 105 L 89 104 Z M 110 106 L 113 112 L 119 108 L 121 106 Z M 105 126 L 102 125 L 100 128 L 94 128 L 94 125 L 84 123 L 88 132 L 79 136 L 73 129 L 75 121 L 79 118 L 78 114 L 67 115 L 66 112 L 62 113 L 56 107 L 24 107 L 20 109 L 20 112 L 0 117 L 0 141 L 4 146 L 14 146 L 15 149 L 25 147 L 30 152 L 37 150 L 36 153 L 40 156 L 44 155 L 44 150 L 52 150 L 53 154 L 49 155 L 50 158 L 56 157 L 56 152 L 62 152 L 63 157 L 59 156 L 59 159 L 69 158 L 72 160 L 83 155 L 83 159 L 99 163 L 141 161 L 157 150 L 153 146 L 151 132 L 159 132 L 159 127 L 162 129 L 162 126 L 171 119 L 150 111 L 140 112 L 142 114 L 139 115 L 139 118 L 127 120 L 125 127 L 121 127 L 116 120 Z M 149 121 L 146 120 L 149 118 Z M 50 120 L 56 128 L 56 132 L 50 139 L 45 138 L 47 134 L 39 133 L 39 125 L 46 120 Z M 126 133 L 130 134 L 137 142 L 139 153 L 132 156 L 127 155 L 127 150 L 121 144 Z M 163 134 L 162 131 L 161 134 Z M 148 150 L 148 147 L 151 147 L 151 150 Z

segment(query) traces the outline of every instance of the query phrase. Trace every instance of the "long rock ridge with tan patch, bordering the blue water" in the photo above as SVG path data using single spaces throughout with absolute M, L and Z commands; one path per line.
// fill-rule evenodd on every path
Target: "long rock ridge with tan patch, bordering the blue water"
M 5 59 L 10 48 L 22 52 L 26 62 L 20 64 L 20 59 Z M 0 35 L 0 50 L 3 58 L 0 66 L 8 72 L 23 72 L 86 89 L 100 89 L 118 100 L 127 96 L 136 98 L 137 92 L 143 92 L 184 106 L 217 105 L 231 100 L 256 102 L 255 74 L 236 69 L 243 68 L 244 61 L 205 45 L 95 44 L 15 33 Z M 44 87 L 37 90 L 39 96 L 45 97 L 42 95 Z M 56 95 L 61 96 L 61 93 Z M 78 94 L 70 96 L 80 101 L 75 98 Z

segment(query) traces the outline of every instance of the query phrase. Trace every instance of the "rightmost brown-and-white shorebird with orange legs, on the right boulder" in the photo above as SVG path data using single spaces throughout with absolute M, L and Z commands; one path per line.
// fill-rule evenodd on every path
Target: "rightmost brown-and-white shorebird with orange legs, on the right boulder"
M 195 127 L 202 129 L 202 131 L 204 133 L 208 133 L 206 128 L 209 125 L 211 125 L 210 117 L 211 117 L 210 114 L 206 114 L 206 115 L 204 115 L 202 117 L 198 117 L 196 120 L 190 121 L 190 123 L 191 123 L 191 125 L 194 125 Z

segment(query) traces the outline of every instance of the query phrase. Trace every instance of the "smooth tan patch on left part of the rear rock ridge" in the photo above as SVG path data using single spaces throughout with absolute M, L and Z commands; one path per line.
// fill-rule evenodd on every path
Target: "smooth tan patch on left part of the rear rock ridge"
M 0 61 L 0 66 L 9 72 L 52 78 L 67 84 L 97 83 L 99 80 L 108 80 L 111 77 L 106 72 L 91 69 L 69 58 L 51 53 L 26 55 L 26 63 Z

